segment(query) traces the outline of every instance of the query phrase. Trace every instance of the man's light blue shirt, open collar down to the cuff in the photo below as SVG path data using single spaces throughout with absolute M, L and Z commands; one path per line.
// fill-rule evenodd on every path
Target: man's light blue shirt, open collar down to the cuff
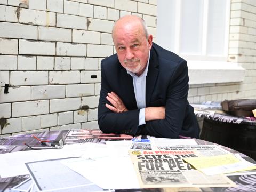
M 126 69 L 127 74 L 132 76 L 133 81 L 133 89 L 135 93 L 135 98 L 137 102 L 137 107 L 140 109 L 140 116 L 139 116 L 139 126 L 146 124 L 145 121 L 145 107 L 146 107 L 146 76 L 148 74 L 148 63 L 150 58 L 150 51 L 148 54 L 148 62 L 146 69 L 143 73 L 138 77 L 135 73 Z

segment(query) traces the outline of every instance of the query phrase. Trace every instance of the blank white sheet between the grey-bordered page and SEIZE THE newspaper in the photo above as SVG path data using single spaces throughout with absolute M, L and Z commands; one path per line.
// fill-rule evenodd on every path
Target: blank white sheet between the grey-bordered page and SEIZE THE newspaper
M 103 189 L 140 188 L 130 157 L 76 158 L 61 161 Z

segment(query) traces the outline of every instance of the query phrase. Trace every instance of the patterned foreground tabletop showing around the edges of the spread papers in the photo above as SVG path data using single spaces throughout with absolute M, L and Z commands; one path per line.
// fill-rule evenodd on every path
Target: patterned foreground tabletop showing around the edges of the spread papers
M 72 130 L 71 130 L 72 131 Z M 51 138 L 50 140 L 59 140 L 63 137 L 65 137 L 65 135 L 67 135 L 68 130 L 63 130 L 63 131 L 46 131 L 46 132 L 39 132 L 39 133 L 35 133 L 34 135 L 36 135 L 37 137 L 47 137 L 47 138 Z M 33 147 L 42 147 L 38 145 L 38 141 L 34 140 L 31 137 L 32 134 L 26 134 L 26 135 L 17 135 L 15 137 L 9 137 L 9 138 L 3 138 L 0 139 L 0 153 L 12 153 L 14 151 L 26 151 L 26 150 L 31 150 L 30 148 L 28 148 L 27 146 L 24 146 L 23 144 L 21 145 L 21 143 L 23 141 L 26 141 L 27 143 L 29 143 L 30 146 Z M 189 139 L 187 137 L 180 137 L 180 138 L 186 138 Z M 107 140 L 127 140 L 127 139 L 131 139 L 131 137 L 129 135 L 119 135 L 119 134 L 101 134 L 99 132 L 99 130 L 88 130 L 88 134 L 86 135 L 86 137 L 81 137 L 81 134 L 79 134 L 79 131 L 76 132 L 74 131 L 74 134 L 70 134 L 69 137 L 66 137 L 66 141 L 67 143 L 82 143 L 82 142 L 97 142 L 97 143 L 104 143 Z M 198 145 L 214 145 L 214 143 L 209 142 L 209 141 L 204 141 L 204 140 L 200 140 L 200 139 L 194 139 L 196 141 L 196 143 L 198 143 Z M 7 144 L 11 144 L 11 146 L 7 146 Z M 4 146 L 5 145 L 5 146 Z M 2 148 L 1 148 L 2 147 Z M 222 148 L 230 151 L 231 153 L 238 153 L 237 151 L 227 148 L 227 147 L 223 147 Z M 61 149 L 60 149 L 61 150 Z M 23 153 L 23 152 L 22 152 Z M 246 159 L 249 162 L 255 163 L 256 162 L 250 158 L 247 157 L 244 154 L 239 153 L 244 159 Z M 238 187 L 237 188 L 201 188 L 201 191 L 241 191 L 242 189 L 244 189 L 245 191 L 249 191 L 249 189 L 256 189 L 256 174 L 249 174 L 251 171 L 247 171 L 248 174 L 246 175 L 237 175 L 237 176 L 231 176 L 229 177 L 231 180 L 236 181 L 238 183 Z M 18 183 L 21 183 L 22 181 L 28 179 L 29 175 L 20 175 L 17 177 L 11 177 L 11 178 L 0 178 L 0 191 L 10 191 L 9 189 L 15 185 L 17 185 Z M 241 182 L 241 181 L 244 181 Z M 248 183 L 248 181 L 250 181 Z M 247 182 L 247 183 L 246 183 Z M 172 188 L 149 188 L 149 189 L 119 189 L 119 190 L 115 190 L 115 191 L 172 191 Z M 191 188 L 190 188 L 191 190 Z M 195 188 L 195 191 L 198 191 Z

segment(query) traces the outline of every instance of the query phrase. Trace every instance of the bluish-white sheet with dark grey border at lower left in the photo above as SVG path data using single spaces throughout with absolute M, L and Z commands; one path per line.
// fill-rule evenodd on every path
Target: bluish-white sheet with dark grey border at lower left
M 63 159 L 26 163 L 31 178 L 40 191 L 76 190 L 76 187 L 83 187 L 84 191 L 103 191 L 90 180 L 60 163 L 61 160 Z

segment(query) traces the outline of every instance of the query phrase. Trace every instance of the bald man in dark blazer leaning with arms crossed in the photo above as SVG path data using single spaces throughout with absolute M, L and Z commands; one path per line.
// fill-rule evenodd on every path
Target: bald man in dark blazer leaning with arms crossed
M 112 37 L 117 54 L 101 61 L 100 130 L 198 138 L 194 109 L 187 101 L 186 61 L 153 43 L 137 16 L 116 21 Z

